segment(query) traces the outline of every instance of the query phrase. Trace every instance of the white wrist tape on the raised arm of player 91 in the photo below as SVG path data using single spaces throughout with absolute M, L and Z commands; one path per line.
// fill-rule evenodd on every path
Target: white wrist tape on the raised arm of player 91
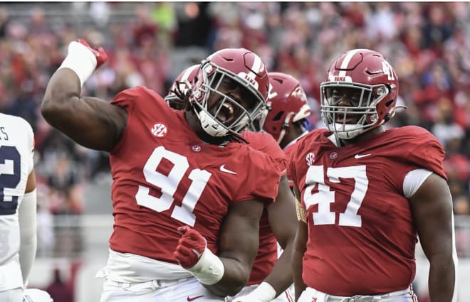
M 68 44 L 68 55 L 63 60 L 61 68 L 69 68 L 78 75 L 80 79 L 80 87 L 88 80 L 88 77 L 96 68 L 95 54 L 82 43 L 76 41 Z

